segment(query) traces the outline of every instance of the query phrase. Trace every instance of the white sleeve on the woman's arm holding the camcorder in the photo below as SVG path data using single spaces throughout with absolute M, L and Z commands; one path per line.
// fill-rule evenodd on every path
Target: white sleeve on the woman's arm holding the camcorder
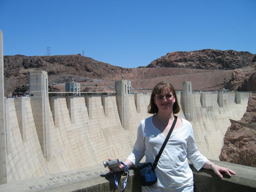
M 144 137 L 145 120 L 140 122 L 137 132 L 137 140 L 133 146 L 132 153 L 128 156 L 135 167 L 140 163 L 140 160 L 145 155 L 145 137 Z

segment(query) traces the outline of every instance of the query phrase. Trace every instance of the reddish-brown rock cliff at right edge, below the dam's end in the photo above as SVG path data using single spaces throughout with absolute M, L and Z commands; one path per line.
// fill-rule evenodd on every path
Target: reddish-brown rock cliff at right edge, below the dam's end
M 251 95 L 247 110 L 240 120 L 255 124 L 256 128 L 256 95 Z M 256 167 L 256 130 L 243 127 L 238 123 L 231 124 L 224 136 L 224 145 L 220 161 Z

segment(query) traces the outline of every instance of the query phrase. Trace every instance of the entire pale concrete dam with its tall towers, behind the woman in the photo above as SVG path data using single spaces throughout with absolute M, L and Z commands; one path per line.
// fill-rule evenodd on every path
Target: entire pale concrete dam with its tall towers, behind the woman
M 0 184 L 125 160 L 140 121 L 151 116 L 150 94 L 128 94 L 127 80 L 110 95 L 49 93 L 47 72 L 31 71 L 29 97 L 4 99 L 1 47 Z M 192 83 L 177 93 L 177 115 L 193 125 L 201 153 L 218 160 L 230 119 L 241 119 L 251 92 L 192 93 Z

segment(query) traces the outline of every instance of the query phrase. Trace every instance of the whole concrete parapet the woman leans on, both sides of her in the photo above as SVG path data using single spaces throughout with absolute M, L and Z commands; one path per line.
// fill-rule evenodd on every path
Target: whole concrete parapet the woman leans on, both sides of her
M 254 192 L 256 191 L 256 168 L 244 165 L 231 164 L 211 160 L 212 162 L 225 166 L 236 172 L 231 178 L 227 174 L 223 174 L 220 179 L 213 171 L 202 169 L 199 172 L 190 165 L 194 174 L 194 191 L 201 192 Z M 140 164 L 140 166 L 142 163 Z M 140 192 L 140 167 L 130 170 L 125 191 Z M 117 173 L 119 187 L 123 188 L 126 172 Z M 55 192 L 115 192 L 116 188 L 113 174 L 108 172 L 107 168 L 102 165 L 92 166 L 89 168 L 77 169 L 68 172 L 56 173 L 37 177 L 34 179 L 18 181 L 0 185 L 0 192 L 35 192 L 35 191 L 55 191 Z

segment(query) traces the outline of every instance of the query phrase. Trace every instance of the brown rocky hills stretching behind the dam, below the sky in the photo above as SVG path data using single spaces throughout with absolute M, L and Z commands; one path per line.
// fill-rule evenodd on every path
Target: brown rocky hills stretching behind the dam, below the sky
M 170 81 L 177 90 L 183 81 L 191 81 L 194 90 L 256 91 L 256 55 L 249 52 L 199 50 L 171 52 L 146 67 L 121 68 L 81 55 L 4 56 L 4 94 L 28 91 L 29 71 L 48 72 L 49 91 L 64 92 L 73 78 L 81 82 L 81 91 L 114 91 L 115 80 L 122 76 L 134 88 L 153 88 L 156 82 Z M 156 66 L 160 68 L 156 68 Z M 203 83 L 202 83 L 203 82 Z M 51 85 L 55 83 L 55 85 Z

